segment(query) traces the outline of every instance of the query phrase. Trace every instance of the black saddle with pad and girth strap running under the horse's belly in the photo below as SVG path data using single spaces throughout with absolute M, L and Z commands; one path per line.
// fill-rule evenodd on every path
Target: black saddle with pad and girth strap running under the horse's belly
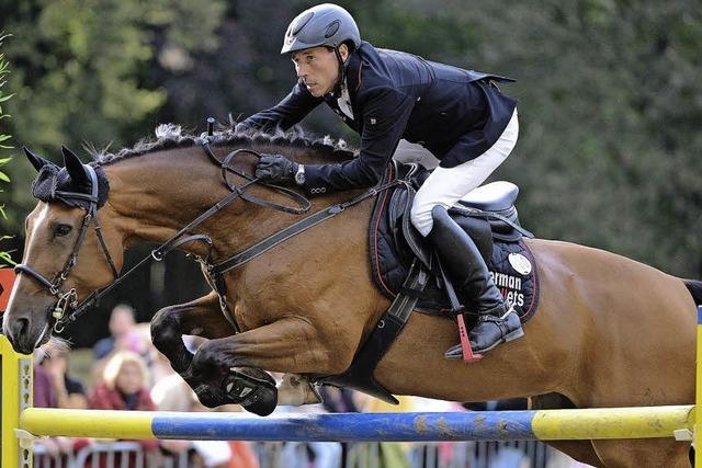
M 373 377 L 387 350 L 401 333 L 412 311 L 452 318 L 456 308 L 449 276 L 410 222 L 415 194 L 429 176 L 417 164 L 389 164 L 381 186 L 369 232 L 373 281 L 392 299 L 373 332 L 362 344 L 351 366 L 340 375 L 319 376 L 321 385 L 352 388 L 397 404 Z M 495 182 L 471 192 L 449 210 L 452 218 L 474 240 L 495 284 L 514 307 L 523 322 L 536 310 L 539 278 L 536 264 L 523 238 L 533 235 L 519 224 L 514 201 L 519 189 L 509 182 Z M 446 279 L 444 279 L 446 278 Z M 471 312 L 471 304 L 463 305 Z M 467 326 L 473 323 L 468 321 Z

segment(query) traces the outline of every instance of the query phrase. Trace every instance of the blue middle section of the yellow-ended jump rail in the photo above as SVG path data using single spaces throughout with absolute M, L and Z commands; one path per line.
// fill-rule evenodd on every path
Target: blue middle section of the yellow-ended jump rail
M 536 438 L 535 411 L 466 413 L 242 413 L 156 415 L 151 431 L 158 438 L 247 441 L 523 441 Z

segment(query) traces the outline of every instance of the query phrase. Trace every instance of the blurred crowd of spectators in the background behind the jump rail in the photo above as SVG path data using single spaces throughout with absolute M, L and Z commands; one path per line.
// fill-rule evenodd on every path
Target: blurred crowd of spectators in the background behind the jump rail
M 201 340 L 196 336 L 184 336 L 185 345 L 194 352 Z M 98 409 L 98 410 L 141 410 L 141 411 L 212 411 L 202 407 L 188 384 L 176 374 L 169 362 L 151 344 L 149 324 L 136 323 L 132 307 L 120 305 L 110 318 L 110 336 L 95 343 L 90 375 L 86 385 L 71 374 L 69 351 L 59 346 L 44 346 L 35 354 L 34 368 L 34 406 L 44 408 Z M 280 378 L 281 376 L 275 376 Z M 299 408 L 279 407 L 275 411 L 310 413 L 310 412 L 397 412 L 397 411 L 465 411 L 465 410 L 502 410 L 524 409 L 525 400 L 510 400 L 479 404 L 451 403 L 415 397 L 400 397 L 400 404 L 390 406 L 381 400 L 360 392 L 339 390 L 331 387 L 321 388 L 324 403 Z M 216 411 L 241 411 L 238 406 L 217 408 Z M 48 458 L 70 457 L 91 444 L 117 442 L 94 438 L 48 437 L 36 441 Z M 353 444 L 339 443 L 284 443 L 278 446 L 279 459 L 272 464 L 261 453 L 261 444 L 254 446 L 247 442 L 224 441 L 133 441 L 140 446 L 140 453 L 147 455 L 147 466 L 181 466 L 185 460 L 188 467 L 241 467 L 261 468 L 267 466 L 284 466 L 292 468 L 342 468 L 352 459 L 349 450 L 359 448 Z M 454 458 L 455 444 L 437 444 L 435 466 L 475 466 L 465 458 L 465 446 L 462 446 L 465 461 L 458 465 Z M 415 452 L 412 453 L 411 449 Z M 533 466 L 523 450 L 501 447 L 490 467 L 521 468 Z M 356 450 L 358 452 L 358 450 Z M 376 459 L 372 464 L 354 464 L 354 466 L 415 467 L 428 466 L 426 461 L 417 463 L 417 446 L 411 444 L 377 444 Z M 426 452 L 426 449 L 424 449 Z M 426 454 L 419 454 L 426 456 Z M 141 466 L 138 454 L 94 455 L 90 466 L 109 468 L 111 466 Z M 364 455 L 366 456 L 366 455 Z M 128 458 L 121 460 L 120 458 Z M 415 461 L 412 463 L 412 457 Z M 441 463 L 441 459 L 443 461 Z M 166 460 L 180 460 L 170 465 Z M 45 466 L 45 465 L 42 465 Z M 550 466 L 554 466 L 550 464 Z M 571 466 L 571 465 L 557 465 Z

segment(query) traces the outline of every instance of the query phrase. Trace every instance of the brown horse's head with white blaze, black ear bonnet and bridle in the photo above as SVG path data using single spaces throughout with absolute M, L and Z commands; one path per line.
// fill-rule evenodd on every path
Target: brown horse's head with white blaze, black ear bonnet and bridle
M 25 149 L 38 171 L 32 191 L 39 203 L 25 220 L 24 256 L 2 323 L 21 353 L 47 342 L 53 329 L 122 266 L 120 237 L 98 216 L 109 192 L 104 172 L 66 148 L 63 152 L 60 168 Z

